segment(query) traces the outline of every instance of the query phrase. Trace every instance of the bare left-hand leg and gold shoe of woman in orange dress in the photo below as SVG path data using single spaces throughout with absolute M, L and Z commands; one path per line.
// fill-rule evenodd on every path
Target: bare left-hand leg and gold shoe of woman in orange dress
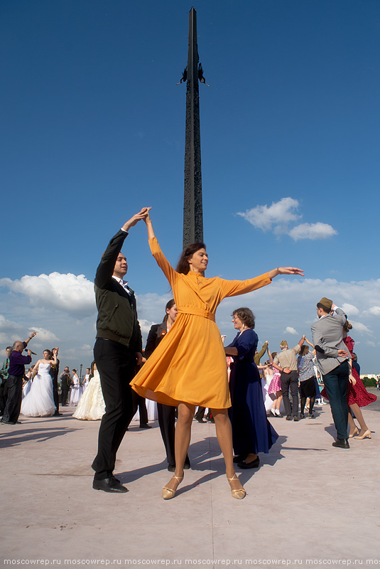
M 175 425 L 174 439 L 175 472 L 174 476 L 165 486 L 171 490 L 176 490 L 178 484 L 180 484 L 183 479 L 183 464 L 185 463 L 185 458 L 188 454 L 188 448 L 190 445 L 191 425 L 194 413 L 195 405 L 190 405 L 190 403 L 179 403 L 178 420 Z

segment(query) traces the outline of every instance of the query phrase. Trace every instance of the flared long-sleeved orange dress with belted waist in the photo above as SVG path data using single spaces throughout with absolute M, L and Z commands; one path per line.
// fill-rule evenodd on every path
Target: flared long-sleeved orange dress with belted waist
M 195 272 L 176 272 L 165 259 L 156 238 L 149 240 L 158 266 L 170 282 L 178 315 L 168 334 L 131 381 L 148 399 L 180 402 L 212 409 L 231 407 L 227 363 L 215 310 L 226 297 L 265 287 L 268 273 L 249 280 L 207 279 Z

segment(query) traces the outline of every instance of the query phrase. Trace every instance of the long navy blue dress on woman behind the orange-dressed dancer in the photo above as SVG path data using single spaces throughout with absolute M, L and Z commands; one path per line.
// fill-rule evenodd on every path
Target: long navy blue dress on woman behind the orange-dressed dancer
M 229 348 L 237 348 L 234 367 L 229 377 L 232 407 L 232 442 L 235 454 L 268 452 L 278 434 L 266 418 L 261 379 L 254 363 L 256 332 L 250 328 L 237 334 Z

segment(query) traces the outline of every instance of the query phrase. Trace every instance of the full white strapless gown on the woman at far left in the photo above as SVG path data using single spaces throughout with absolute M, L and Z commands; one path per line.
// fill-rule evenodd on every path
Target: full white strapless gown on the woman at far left
M 50 363 L 40 363 L 38 374 L 21 403 L 21 415 L 26 417 L 50 417 L 55 412 L 53 379 Z

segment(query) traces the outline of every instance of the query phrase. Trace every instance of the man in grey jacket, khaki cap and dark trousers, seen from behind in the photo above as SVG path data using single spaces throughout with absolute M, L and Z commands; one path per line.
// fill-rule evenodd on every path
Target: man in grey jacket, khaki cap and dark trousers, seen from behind
M 343 310 L 323 297 L 317 303 L 319 320 L 311 326 L 317 361 L 323 376 L 323 383 L 330 400 L 332 418 L 337 429 L 337 440 L 333 447 L 349 449 L 347 439 L 347 383 L 351 357 L 343 341 L 343 325 L 346 315 Z

